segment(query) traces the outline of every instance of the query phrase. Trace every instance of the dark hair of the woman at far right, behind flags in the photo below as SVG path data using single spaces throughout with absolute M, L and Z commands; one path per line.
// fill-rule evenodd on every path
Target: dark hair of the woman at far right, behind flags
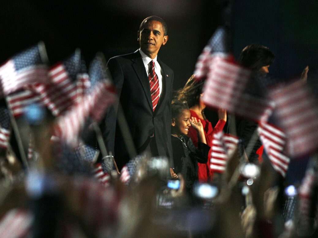
M 252 71 L 259 71 L 263 66 L 271 65 L 274 59 L 274 53 L 267 47 L 259 44 L 250 44 L 242 50 L 238 61 Z

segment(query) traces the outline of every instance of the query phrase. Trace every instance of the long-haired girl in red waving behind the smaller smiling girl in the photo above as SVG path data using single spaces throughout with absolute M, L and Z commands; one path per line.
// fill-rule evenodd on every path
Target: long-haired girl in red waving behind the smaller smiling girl
M 176 97 L 178 98 L 178 100 L 186 101 L 188 103 L 191 117 L 194 117 L 197 120 L 201 120 L 204 128 L 206 144 L 211 147 L 213 134 L 223 130 L 226 122 L 226 111 L 224 109 L 218 110 L 219 121 L 213 128 L 211 122 L 209 122 L 204 116 L 205 104 L 201 100 L 201 97 L 203 95 L 203 83 L 203 81 L 195 80 L 194 75 L 192 75 L 188 79 L 188 82 L 184 85 L 184 87 L 177 92 Z M 197 131 L 190 127 L 188 136 L 197 147 Z M 210 159 L 211 151 L 209 153 L 208 162 L 206 164 L 198 163 L 198 179 L 200 182 L 210 182 L 212 180 L 213 173 L 210 169 Z

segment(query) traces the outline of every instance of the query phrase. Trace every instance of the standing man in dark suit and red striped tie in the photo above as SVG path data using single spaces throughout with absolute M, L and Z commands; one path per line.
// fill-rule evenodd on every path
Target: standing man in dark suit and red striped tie
M 171 100 L 173 71 L 157 57 L 168 41 L 167 25 L 156 16 L 147 17 L 138 31 L 140 49 L 109 59 L 109 70 L 119 102 L 128 122 L 137 154 L 167 156 L 172 165 Z M 120 169 L 129 160 L 127 146 L 117 118 L 118 106 L 107 112 L 104 130 L 107 147 Z

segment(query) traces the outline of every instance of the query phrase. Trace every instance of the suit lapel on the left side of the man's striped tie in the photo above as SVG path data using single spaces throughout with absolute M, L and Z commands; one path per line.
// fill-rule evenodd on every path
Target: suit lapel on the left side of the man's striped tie
M 134 61 L 133 68 L 136 72 L 136 75 L 139 78 L 139 81 L 142 85 L 143 91 L 146 95 L 147 101 L 149 103 L 149 107 L 152 109 L 152 100 L 150 95 L 150 85 L 149 85 L 149 78 L 147 77 L 147 72 L 145 66 L 142 61 L 142 57 L 138 51 L 136 53 L 136 58 L 132 59 Z

